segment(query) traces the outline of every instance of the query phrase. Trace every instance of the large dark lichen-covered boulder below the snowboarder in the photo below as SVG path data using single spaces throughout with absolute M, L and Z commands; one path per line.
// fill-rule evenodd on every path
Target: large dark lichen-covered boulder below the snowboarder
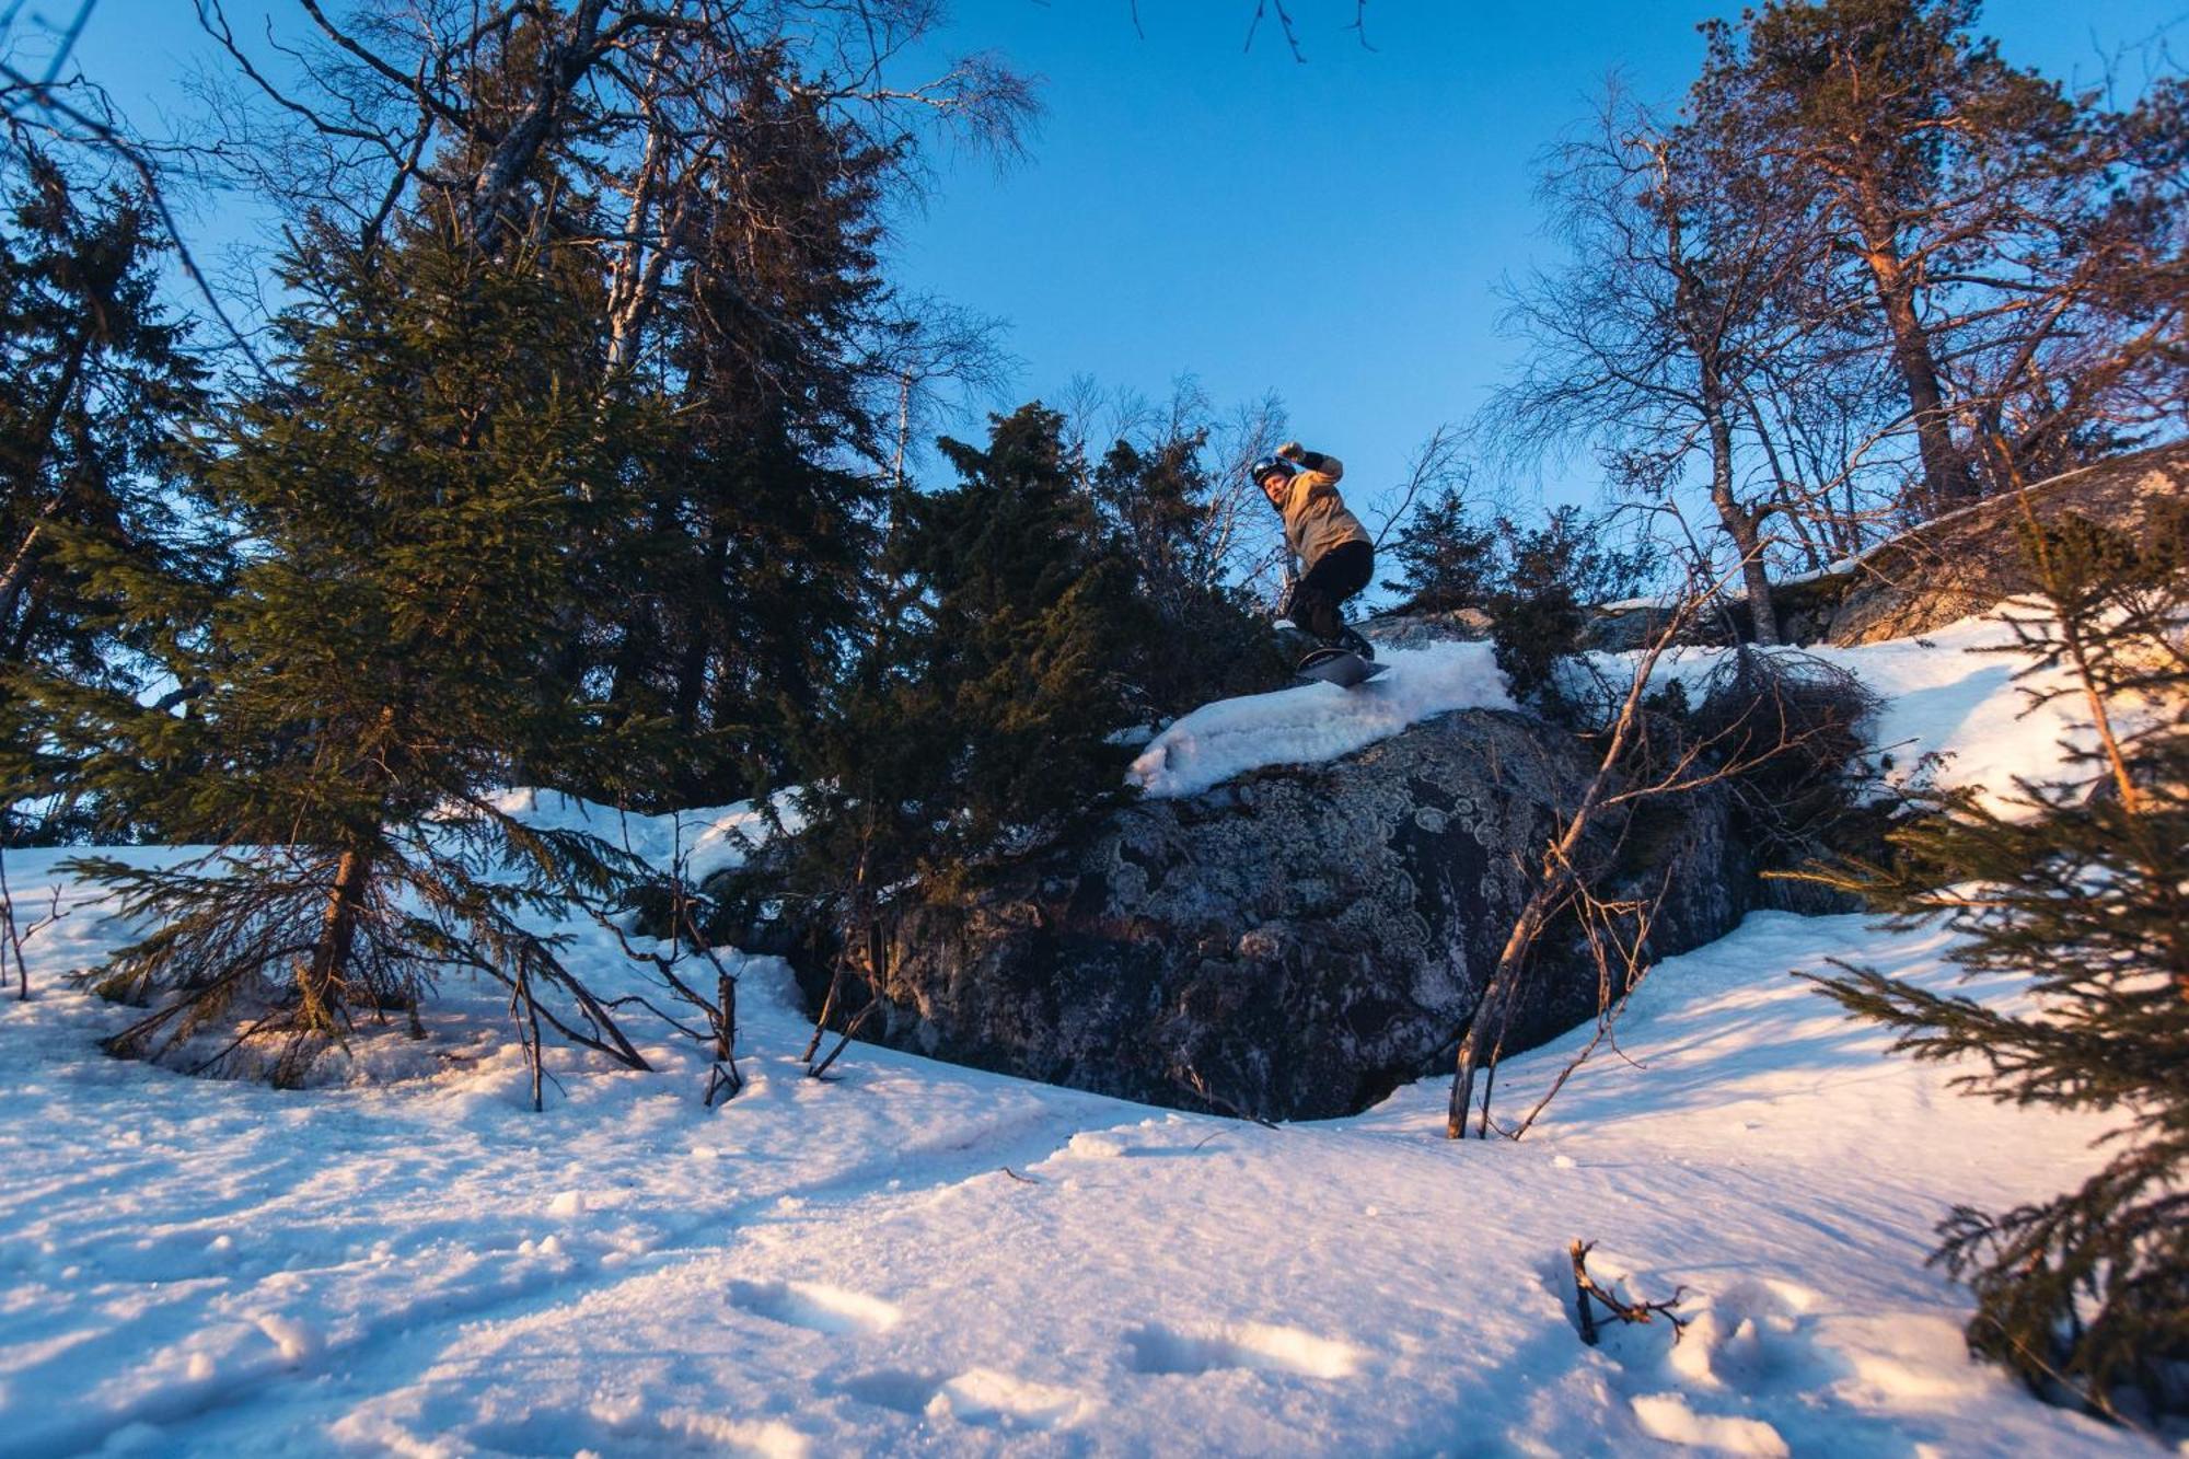
M 1567 736 L 1471 710 L 1333 765 L 1127 806 L 963 903 L 889 914 L 862 1036 L 1156 1104 L 1364 1108 L 1449 1058 L 1589 771 Z M 1727 822 L 1712 795 L 1653 802 L 1648 826 L 1591 852 L 1618 857 L 1607 885 L 1670 887 L 1657 955 L 1747 909 Z M 816 1001 L 825 975 L 801 968 Z M 1554 942 L 1508 1052 L 1589 1016 L 1596 995 L 1594 962 Z

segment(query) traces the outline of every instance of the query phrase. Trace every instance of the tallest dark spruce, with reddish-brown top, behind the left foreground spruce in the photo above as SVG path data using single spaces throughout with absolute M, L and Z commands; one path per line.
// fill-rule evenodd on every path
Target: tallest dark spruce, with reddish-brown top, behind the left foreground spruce
M 779 88 L 781 55 L 746 64 L 655 315 L 676 414 L 598 563 L 580 648 L 615 714 L 681 736 L 646 797 L 661 804 L 788 773 L 869 611 L 887 497 L 876 212 L 895 158 Z

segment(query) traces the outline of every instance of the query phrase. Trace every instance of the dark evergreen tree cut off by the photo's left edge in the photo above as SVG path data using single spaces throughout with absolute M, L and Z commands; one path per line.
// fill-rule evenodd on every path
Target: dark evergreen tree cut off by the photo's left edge
M 155 302 L 151 217 L 123 193 L 88 210 L 57 166 L 22 162 L 0 230 L 0 738 L 18 762 L 35 749 L 20 721 L 26 673 L 160 688 L 162 646 L 204 618 L 225 570 L 188 497 L 204 368 Z M 175 594 L 175 613 L 120 611 L 149 583 Z M 94 826 L 81 802 L 4 811 L 9 839 Z

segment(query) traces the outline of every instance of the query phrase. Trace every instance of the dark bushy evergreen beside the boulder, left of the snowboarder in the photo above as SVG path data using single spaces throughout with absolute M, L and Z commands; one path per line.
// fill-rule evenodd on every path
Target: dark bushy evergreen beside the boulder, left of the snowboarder
M 865 909 L 908 876 L 948 894 L 1125 797 L 1123 664 L 1151 611 L 1062 425 L 1027 405 L 985 447 L 943 440 L 961 482 L 902 504 L 900 589 L 823 719 L 806 791 L 808 870 L 849 878 Z

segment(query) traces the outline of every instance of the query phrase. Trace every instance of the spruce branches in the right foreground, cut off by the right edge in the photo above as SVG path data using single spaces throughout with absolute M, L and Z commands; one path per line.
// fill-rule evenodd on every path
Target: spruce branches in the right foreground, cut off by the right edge
M 1935 1255 L 1977 1297 L 1977 1354 L 2110 1417 L 2189 1413 L 2189 506 L 2154 513 L 2141 550 L 2073 517 L 2031 524 L 2042 613 L 2003 609 L 2025 688 L 2082 705 L 2095 747 L 2003 806 L 1935 795 L 1889 865 L 1826 876 L 1891 927 L 1944 918 L 1966 977 L 2025 979 L 2036 1006 L 1867 968 L 1819 979 L 1896 1049 L 1955 1060 L 1961 1089 L 2119 1117 L 2082 1187 L 1957 1207 Z

